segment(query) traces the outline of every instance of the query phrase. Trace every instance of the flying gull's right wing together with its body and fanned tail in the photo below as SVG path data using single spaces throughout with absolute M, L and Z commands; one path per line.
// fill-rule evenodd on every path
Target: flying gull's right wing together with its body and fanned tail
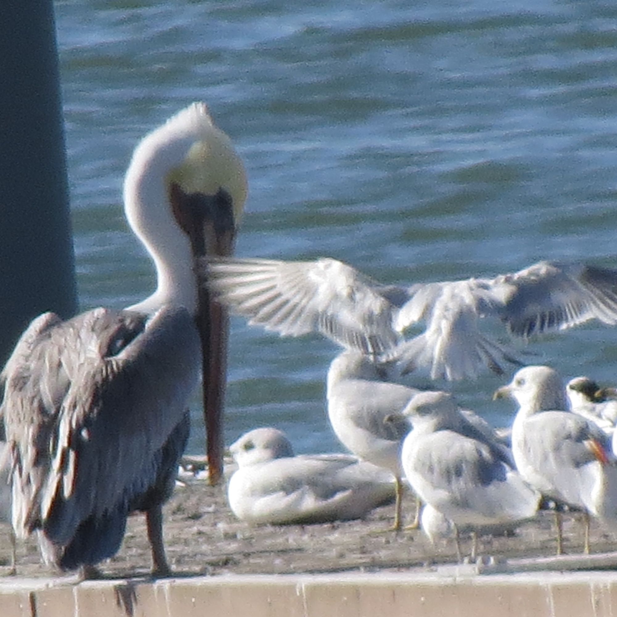
M 419 321 L 426 328 L 389 357 L 404 372 L 428 366 L 433 378 L 473 378 L 484 368 L 502 374 L 507 363 L 521 364 L 515 351 L 481 331 L 482 320 L 502 321 L 525 339 L 592 319 L 617 323 L 617 271 L 582 264 L 539 262 L 494 279 L 416 284 L 408 294 L 395 329 Z

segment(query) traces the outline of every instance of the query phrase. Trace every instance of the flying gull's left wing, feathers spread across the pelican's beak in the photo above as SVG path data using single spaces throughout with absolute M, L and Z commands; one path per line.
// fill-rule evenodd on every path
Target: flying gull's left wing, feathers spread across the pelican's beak
M 398 339 L 392 289 L 336 259 L 226 259 L 205 268 L 220 302 L 282 336 L 318 332 L 365 354 L 381 354 Z

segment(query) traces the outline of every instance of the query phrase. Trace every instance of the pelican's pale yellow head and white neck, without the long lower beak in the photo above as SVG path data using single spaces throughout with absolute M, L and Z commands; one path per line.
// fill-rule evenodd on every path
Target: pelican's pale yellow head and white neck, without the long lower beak
M 246 194 L 244 165 L 204 103 L 193 103 L 146 135 L 126 172 L 124 203 L 131 228 L 154 260 L 157 291 L 130 309 L 152 313 L 173 304 L 194 312 L 196 236 L 210 245 L 207 254 L 229 252 Z M 204 236 L 199 225 L 210 231 Z M 221 234 L 231 238 L 221 244 Z

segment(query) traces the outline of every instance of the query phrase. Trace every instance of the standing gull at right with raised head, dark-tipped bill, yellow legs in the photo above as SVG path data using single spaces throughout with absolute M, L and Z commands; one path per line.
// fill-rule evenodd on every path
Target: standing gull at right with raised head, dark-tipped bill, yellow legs
M 526 481 L 545 497 L 581 509 L 585 552 L 589 553 L 589 515 L 617 524 L 617 461 L 610 437 L 576 413 L 565 411 L 565 388 L 549 366 L 526 366 L 495 398 L 519 404 L 512 426 L 512 452 Z M 561 515 L 555 511 L 557 554 L 563 551 Z

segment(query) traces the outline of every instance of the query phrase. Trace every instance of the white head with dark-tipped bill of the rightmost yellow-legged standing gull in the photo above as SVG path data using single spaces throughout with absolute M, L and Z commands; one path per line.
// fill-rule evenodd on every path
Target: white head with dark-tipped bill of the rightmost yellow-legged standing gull
M 528 414 L 568 409 L 563 381 L 550 366 L 525 366 L 516 371 L 512 381 L 493 395 L 494 399 L 506 397 L 515 399 Z

